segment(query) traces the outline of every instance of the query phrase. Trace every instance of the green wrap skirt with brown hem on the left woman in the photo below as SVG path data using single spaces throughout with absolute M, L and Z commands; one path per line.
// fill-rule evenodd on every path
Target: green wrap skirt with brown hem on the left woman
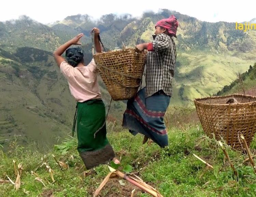
M 77 150 L 86 166 L 90 169 L 99 164 L 108 163 L 115 157 L 112 146 L 106 138 L 105 105 L 101 99 L 83 103 L 77 102 Z

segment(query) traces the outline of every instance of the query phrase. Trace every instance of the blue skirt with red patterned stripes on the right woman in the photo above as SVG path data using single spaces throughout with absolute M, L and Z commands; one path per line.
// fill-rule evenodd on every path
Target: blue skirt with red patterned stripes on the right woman
M 163 117 L 170 103 L 170 96 L 162 90 L 147 97 L 145 88 L 128 100 L 124 112 L 123 127 L 135 136 L 141 133 L 152 139 L 160 147 L 168 146 L 168 136 Z

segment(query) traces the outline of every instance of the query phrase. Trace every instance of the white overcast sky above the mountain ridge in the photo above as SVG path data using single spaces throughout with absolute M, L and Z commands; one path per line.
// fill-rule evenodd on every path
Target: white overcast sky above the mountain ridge
M 18 19 L 21 15 L 29 16 L 41 23 L 63 20 L 67 16 L 76 14 L 88 14 L 94 19 L 110 13 L 118 15 L 128 13 L 139 17 L 144 11 L 157 12 L 160 8 L 175 10 L 208 22 L 242 22 L 256 18 L 255 0 L 4 0 L 1 1 L 0 21 Z

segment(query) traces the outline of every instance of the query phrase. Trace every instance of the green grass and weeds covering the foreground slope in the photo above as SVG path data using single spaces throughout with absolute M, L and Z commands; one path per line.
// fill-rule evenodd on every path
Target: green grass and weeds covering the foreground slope
M 111 127 L 111 125 L 109 125 Z M 122 154 L 122 171 L 125 165 L 132 166 L 132 173 L 136 173 L 148 184 L 154 186 L 163 196 L 255 196 L 256 175 L 253 168 L 241 165 L 243 155 L 231 150 L 228 153 L 234 166 L 238 169 L 239 176 L 234 177 L 227 162 L 223 163 L 224 154 L 217 146 L 217 142 L 204 136 L 202 129 L 197 124 L 184 125 L 186 132 L 179 128 L 170 128 L 169 148 L 161 149 L 156 144 L 142 145 L 142 136 L 133 137 L 128 131 L 108 133 L 108 139 L 113 145 L 117 156 Z M 111 129 L 109 129 L 111 130 Z M 23 164 L 21 187 L 18 191 L 9 183 L 0 184 L 0 196 L 46 196 L 53 193 L 55 196 L 92 196 L 104 177 L 109 173 L 107 165 L 94 168 L 90 175 L 83 176 L 86 170 L 76 150 L 77 142 L 68 138 L 61 145 L 45 153 L 48 164 L 54 171 L 54 184 L 48 184 L 44 179 L 51 181 L 44 167 L 38 169 L 37 174 L 43 179 L 46 188 L 34 180 L 31 170 L 38 165 L 44 153 L 12 143 L 8 154 L 0 154 L 0 179 L 6 180 L 7 174 L 15 181 L 12 160 Z M 256 148 L 254 139 L 251 149 Z M 205 165 L 192 154 L 203 158 L 214 170 L 205 170 Z M 55 163 L 54 154 L 59 160 L 69 164 L 68 170 L 61 171 Z M 131 186 L 124 181 L 125 186 L 120 186 L 118 179 L 106 184 L 100 196 L 128 196 Z M 127 189 L 128 188 L 128 189 Z M 130 189 L 130 190 L 129 190 Z M 137 196 L 149 196 L 139 189 Z

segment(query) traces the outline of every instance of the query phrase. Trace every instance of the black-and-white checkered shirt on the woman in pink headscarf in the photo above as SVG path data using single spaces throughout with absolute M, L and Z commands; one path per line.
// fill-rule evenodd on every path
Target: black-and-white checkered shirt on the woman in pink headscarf
M 172 96 L 172 78 L 176 62 L 176 46 L 172 37 L 158 34 L 153 43 L 153 51 L 146 58 L 146 97 L 159 90 Z

